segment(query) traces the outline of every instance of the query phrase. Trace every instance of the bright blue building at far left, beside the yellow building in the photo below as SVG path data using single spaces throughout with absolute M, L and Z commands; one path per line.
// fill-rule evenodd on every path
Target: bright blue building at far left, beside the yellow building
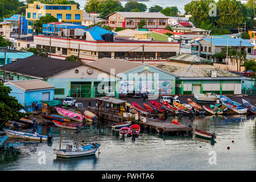
M 13 26 L 13 32 L 21 35 L 27 35 L 28 21 L 26 16 L 13 15 L 10 18 L 3 18 L 3 21 L 10 22 Z

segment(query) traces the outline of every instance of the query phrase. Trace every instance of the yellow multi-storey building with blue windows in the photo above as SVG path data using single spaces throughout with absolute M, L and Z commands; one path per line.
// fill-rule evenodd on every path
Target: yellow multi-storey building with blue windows
M 40 2 L 28 4 L 26 19 L 28 20 L 28 35 L 32 35 L 33 22 L 41 16 L 52 15 L 66 23 L 81 25 L 82 10 L 77 10 L 76 5 L 45 5 Z

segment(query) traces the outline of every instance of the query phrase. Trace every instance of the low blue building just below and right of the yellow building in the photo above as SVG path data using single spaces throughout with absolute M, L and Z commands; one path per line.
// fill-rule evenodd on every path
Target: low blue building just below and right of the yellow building
M 80 28 L 84 29 L 87 28 L 86 26 L 81 26 L 81 24 L 72 24 L 72 23 L 63 23 L 63 22 L 52 22 L 48 24 L 43 24 L 43 34 L 44 35 L 58 35 L 59 31 L 64 29 L 75 29 Z

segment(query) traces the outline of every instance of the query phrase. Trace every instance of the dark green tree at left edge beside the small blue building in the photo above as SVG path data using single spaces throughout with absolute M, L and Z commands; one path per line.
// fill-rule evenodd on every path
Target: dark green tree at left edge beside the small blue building
M 19 112 L 24 107 L 15 97 L 9 96 L 11 88 L 0 83 L 0 127 L 5 126 L 9 120 L 19 120 L 23 114 Z

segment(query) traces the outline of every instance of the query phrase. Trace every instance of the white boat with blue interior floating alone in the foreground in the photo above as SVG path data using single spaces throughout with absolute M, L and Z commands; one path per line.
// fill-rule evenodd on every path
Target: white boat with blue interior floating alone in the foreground
M 79 144 L 77 142 L 71 142 L 63 149 L 53 149 L 53 154 L 56 154 L 57 158 L 76 158 L 81 156 L 95 155 L 96 151 L 101 145 L 97 142 L 92 144 Z

